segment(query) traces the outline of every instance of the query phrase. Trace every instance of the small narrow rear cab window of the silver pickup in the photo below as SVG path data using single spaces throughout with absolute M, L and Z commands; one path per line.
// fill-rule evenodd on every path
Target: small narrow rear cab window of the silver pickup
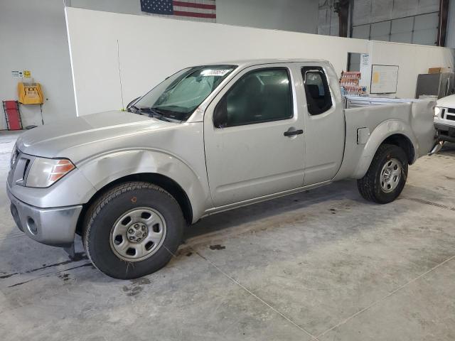
M 306 104 L 311 115 L 326 112 L 332 107 L 332 98 L 327 84 L 327 78 L 321 67 L 304 67 L 301 70 L 304 77 Z

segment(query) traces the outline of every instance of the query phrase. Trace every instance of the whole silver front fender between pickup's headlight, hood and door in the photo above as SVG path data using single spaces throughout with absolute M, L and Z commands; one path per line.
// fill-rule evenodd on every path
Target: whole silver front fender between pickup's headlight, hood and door
M 180 185 L 191 202 L 193 217 L 199 219 L 213 205 L 205 171 L 203 123 L 172 125 L 173 129 L 141 131 L 133 139 L 115 141 L 112 150 L 87 158 L 78 167 L 97 190 L 127 175 L 164 175 Z

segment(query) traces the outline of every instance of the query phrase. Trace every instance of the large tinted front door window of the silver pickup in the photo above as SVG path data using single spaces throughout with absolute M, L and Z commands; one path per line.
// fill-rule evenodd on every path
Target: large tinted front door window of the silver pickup
M 215 109 L 220 128 L 292 117 L 291 80 L 287 69 L 273 68 L 242 76 Z

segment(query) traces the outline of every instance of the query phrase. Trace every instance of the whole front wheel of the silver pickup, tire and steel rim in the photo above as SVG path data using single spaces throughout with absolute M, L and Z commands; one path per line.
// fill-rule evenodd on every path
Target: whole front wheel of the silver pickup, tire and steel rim
M 163 188 L 128 182 L 93 203 L 82 237 L 97 269 L 131 279 L 165 266 L 181 242 L 184 226 L 181 207 Z

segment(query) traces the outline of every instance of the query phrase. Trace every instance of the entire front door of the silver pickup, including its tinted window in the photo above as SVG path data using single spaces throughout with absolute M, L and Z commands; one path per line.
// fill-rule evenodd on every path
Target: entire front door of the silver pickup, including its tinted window
M 205 162 L 216 207 L 303 185 L 294 77 L 284 64 L 247 67 L 208 106 Z

